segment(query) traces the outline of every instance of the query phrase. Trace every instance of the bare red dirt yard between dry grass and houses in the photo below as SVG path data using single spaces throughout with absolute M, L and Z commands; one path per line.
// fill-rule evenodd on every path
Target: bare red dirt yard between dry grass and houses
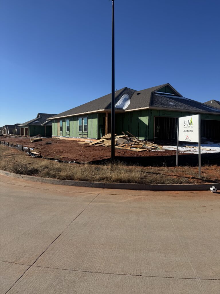
M 111 157 L 111 148 L 103 146 L 90 146 L 84 144 L 77 144 L 80 141 L 63 140 L 58 138 L 43 138 L 40 142 L 30 143 L 30 138 L 1 138 L 1 141 L 13 142 L 14 144 L 23 144 L 25 147 L 35 148 L 36 152 L 40 152 L 43 157 L 55 158 L 56 156 L 63 156 L 62 160 L 89 162 Z M 51 142 L 52 144 L 46 144 Z M 174 151 L 143 151 L 135 152 L 129 150 L 115 149 L 115 156 L 120 157 L 148 157 L 148 156 L 173 156 Z

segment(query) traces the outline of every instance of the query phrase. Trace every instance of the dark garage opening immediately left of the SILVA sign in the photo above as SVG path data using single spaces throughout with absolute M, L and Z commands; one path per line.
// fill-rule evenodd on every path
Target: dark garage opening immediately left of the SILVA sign
M 177 133 L 177 118 L 155 116 L 154 141 L 175 140 Z

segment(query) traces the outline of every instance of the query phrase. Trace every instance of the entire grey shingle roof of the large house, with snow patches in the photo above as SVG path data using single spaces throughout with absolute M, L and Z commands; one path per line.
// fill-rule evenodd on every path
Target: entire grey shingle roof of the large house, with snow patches
M 219 102 L 220 103 L 220 102 Z M 169 83 L 136 91 L 131 88 L 122 88 L 115 92 L 116 111 L 131 111 L 136 109 L 167 109 L 191 112 L 205 112 L 220 114 L 216 107 L 206 106 L 204 103 L 182 97 Z M 51 116 L 48 119 L 81 115 L 90 112 L 110 111 L 111 93 L 92 100 L 70 110 Z

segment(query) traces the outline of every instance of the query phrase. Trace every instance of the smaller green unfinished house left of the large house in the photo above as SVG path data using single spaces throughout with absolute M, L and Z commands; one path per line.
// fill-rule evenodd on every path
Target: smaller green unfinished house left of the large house
M 55 114 L 50 113 L 38 113 L 37 117 L 20 124 L 21 136 L 36 136 L 40 134 L 43 137 L 52 136 L 52 122 L 48 121 L 47 118 L 55 116 Z

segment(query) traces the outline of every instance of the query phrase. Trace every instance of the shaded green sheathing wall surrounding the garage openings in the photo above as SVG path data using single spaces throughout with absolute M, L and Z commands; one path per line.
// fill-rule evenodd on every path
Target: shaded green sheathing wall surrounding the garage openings
M 189 116 L 199 113 L 194 112 L 185 112 L 185 111 L 164 111 L 164 110 L 155 110 L 155 109 L 149 109 L 149 132 L 148 132 L 148 139 L 154 140 L 154 117 L 155 116 L 161 116 L 161 117 L 182 117 L 182 116 Z M 220 120 L 219 115 L 215 114 L 201 114 L 201 119 L 207 119 L 207 120 Z M 134 134 L 133 134 L 134 135 Z

